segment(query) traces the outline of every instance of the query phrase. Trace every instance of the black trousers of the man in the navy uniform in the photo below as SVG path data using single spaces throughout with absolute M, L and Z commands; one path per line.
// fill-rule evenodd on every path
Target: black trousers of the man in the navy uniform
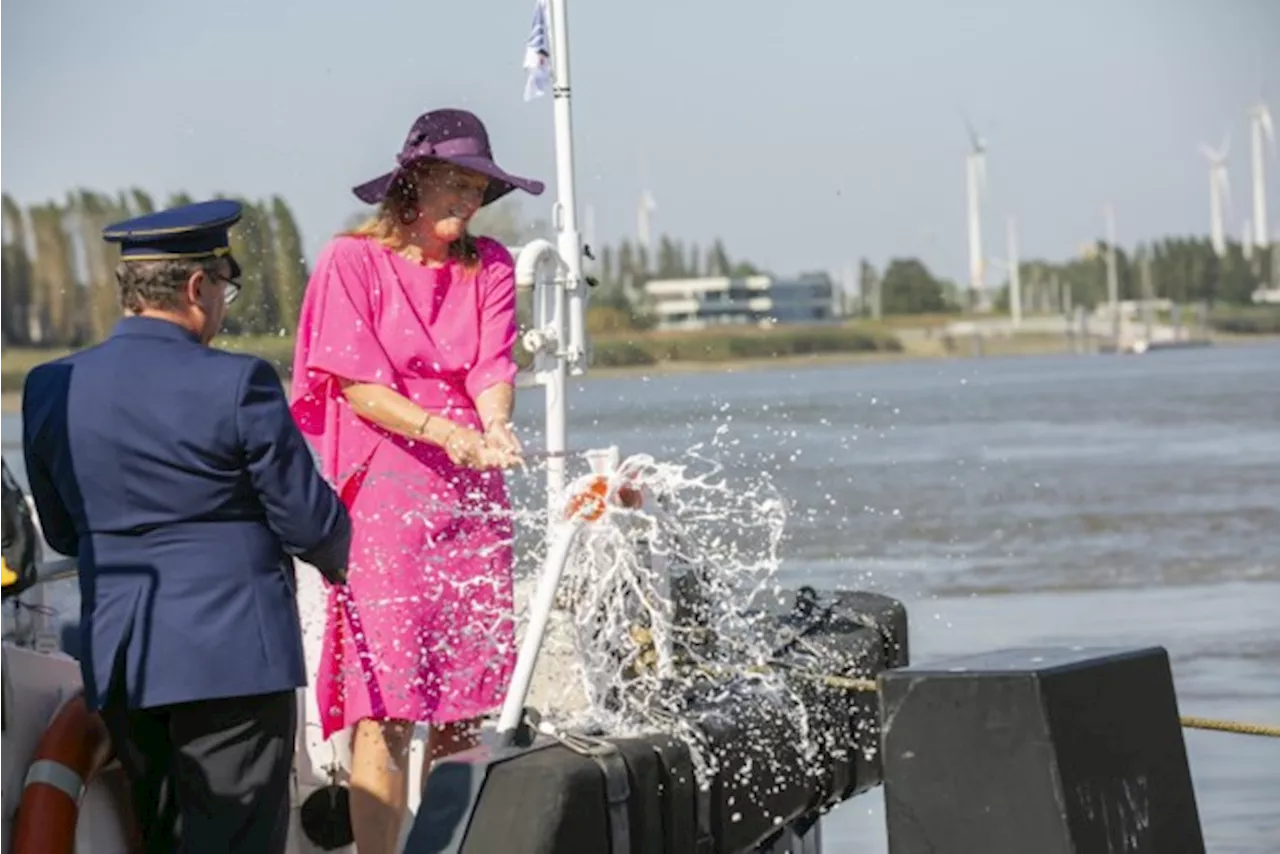
M 297 732 L 293 691 L 101 711 L 146 854 L 283 854 Z M 123 700 L 123 698 L 120 698 Z

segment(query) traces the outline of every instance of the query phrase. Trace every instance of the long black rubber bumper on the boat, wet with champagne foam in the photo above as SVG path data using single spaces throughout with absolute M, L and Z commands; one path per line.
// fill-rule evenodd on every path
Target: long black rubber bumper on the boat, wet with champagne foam
M 509 745 L 439 759 L 404 854 L 815 851 L 819 817 L 881 781 L 873 679 L 908 661 L 906 611 L 873 593 L 805 588 L 788 613 L 765 618 L 805 732 L 758 670 L 698 666 L 655 707 L 678 736 L 525 726 Z M 805 737 L 815 755 L 803 755 Z M 714 764 L 705 787 L 695 746 Z

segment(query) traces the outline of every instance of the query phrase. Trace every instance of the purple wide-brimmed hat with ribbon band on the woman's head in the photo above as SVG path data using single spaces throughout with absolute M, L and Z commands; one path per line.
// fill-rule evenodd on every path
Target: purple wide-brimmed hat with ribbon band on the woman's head
M 466 110 L 433 110 L 417 117 L 417 122 L 410 128 L 404 147 L 396 155 L 396 169 L 355 187 L 352 192 L 361 201 L 376 205 L 387 198 L 406 169 L 422 160 L 452 163 L 488 177 L 489 188 L 483 205 L 495 202 L 517 188 L 540 196 L 545 187 L 540 181 L 508 174 L 493 161 L 489 132 L 474 114 Z

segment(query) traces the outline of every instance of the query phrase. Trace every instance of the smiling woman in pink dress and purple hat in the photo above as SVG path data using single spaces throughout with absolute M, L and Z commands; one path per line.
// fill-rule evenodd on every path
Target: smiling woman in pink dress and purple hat
M 494 164 L 475 115 L 420 117 L 397 168 L 356 187 L 378 211 L 324 248 L 302 301 L 293 415 L 351 511 L 364 629 L 330 589 L 316 694 L 325 737 L 355 725 L 361 854 L 394 850 L 413 725 L 431 726 L 428 762 L 471 746 L 515 663 L 515 269 L 467 222 L 516 188 L 543 184 Z

